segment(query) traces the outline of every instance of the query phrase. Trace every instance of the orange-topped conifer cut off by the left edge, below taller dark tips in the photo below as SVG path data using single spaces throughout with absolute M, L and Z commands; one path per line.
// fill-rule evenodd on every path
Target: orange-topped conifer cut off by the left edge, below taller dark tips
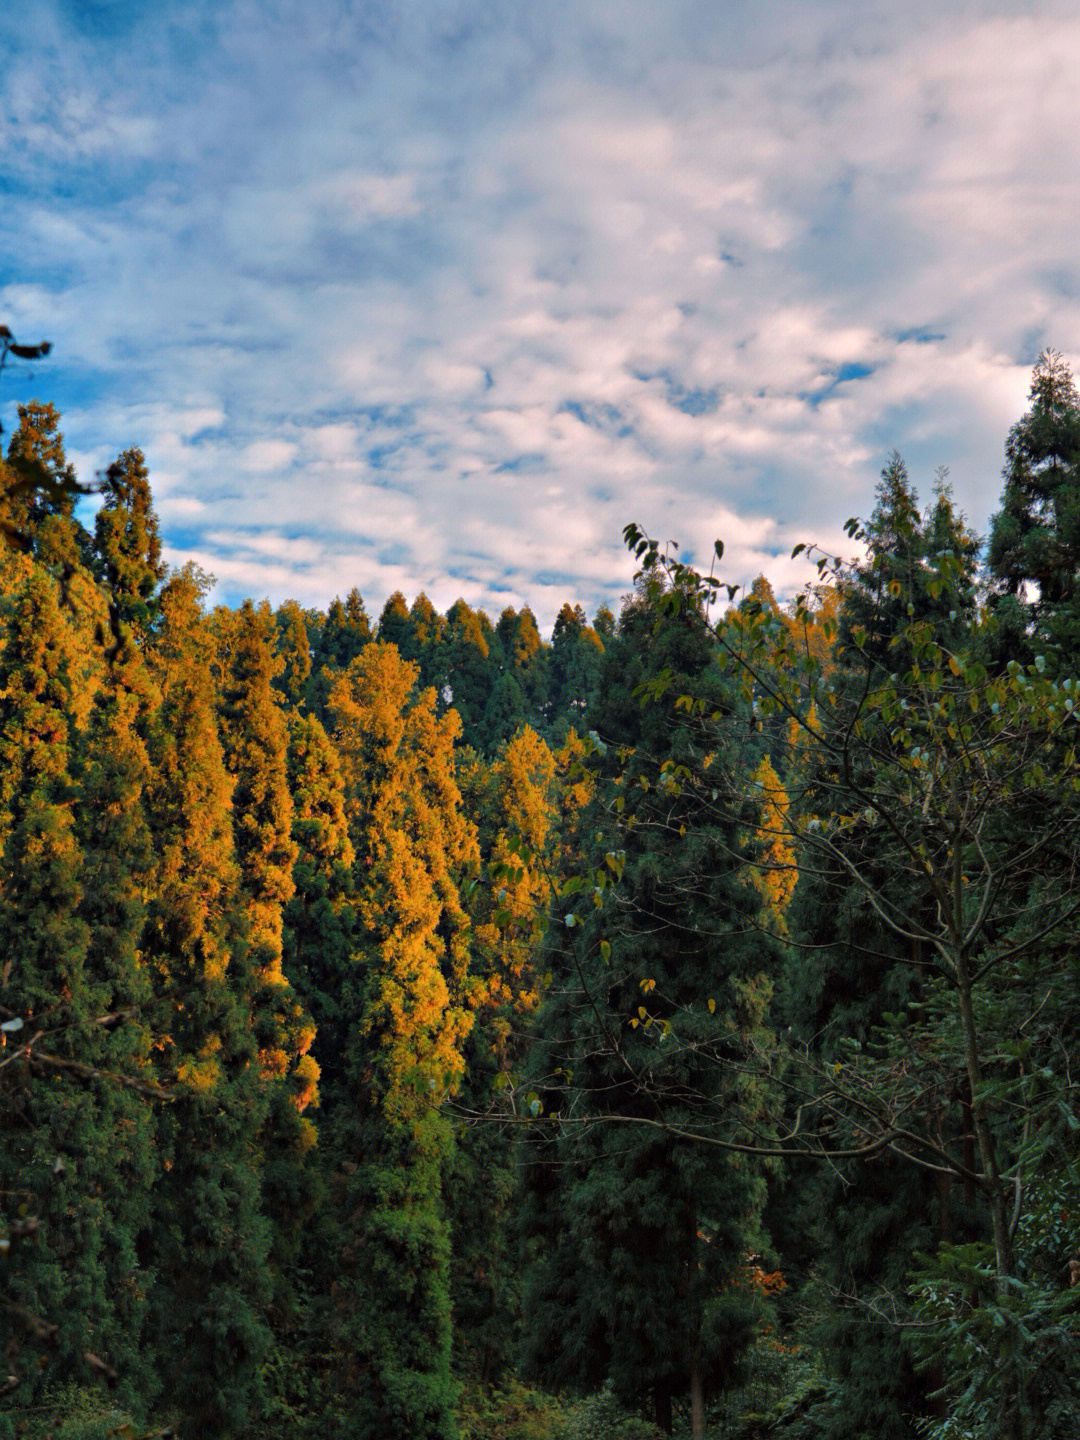
M 0 1214 L 19 1246 L 6 1282 L 9 1319 L 55 1326 L 40 1367 L 17 1367 L 26 1403 L 58 1377 L 89 1377 L 85 1352 L 108 1329 L 95 1205 L 84 1184 L 99 1179 L 101 1090 L 73 1067 L 99 1056 L 95 1021 L 108 991 L 89 972 L 89 927 L 81 914 L 84 852 L 73 821 L 81 724 L 73 681 L 79 636 L 58 586 L 35 566 L 13 598 L 0 654 L 0 1007 L 27 1031 L 16 1074 L 0 1089 Z M 79 696 L 82 720 L 92 694 Z M 56 1064 L 39 1061 L 45 1051 Z M 72 1068 L 65 1068 L 71 1063 Z

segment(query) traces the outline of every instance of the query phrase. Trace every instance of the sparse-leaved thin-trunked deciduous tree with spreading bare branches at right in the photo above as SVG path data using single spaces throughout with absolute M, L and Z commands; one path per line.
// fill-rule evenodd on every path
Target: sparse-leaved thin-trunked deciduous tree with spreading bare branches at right
M 675 609 L 683 595 L 700 603 L 714 589 L 634 527 L 628 539 L 648 570 L 671 577 Z M 828 557 L 821 569 L 850 583 Z M 1035 1061 L 1034 1047 L 1017 1037 L 1038 1028 L 1041 1007 L 1057 991 L 1047 959 L 1068 953 L 1080 912 L 1071 878 L 1080 791 L 1074 681 L 1051 681 L 1038 658 L 1027 668 L 1015 661 L 988 668 L 981 657 L 994 621 L 971 611 L 955 552 L 942 552 L 920 583 L 939 612 L 920 613 L 910 593 L 904 605 L 903 582 L 890 582 L 886 593 L 907 619 L 891 641 L 876 625 L 852 626 L 842 685 L 812 664 L 801 667 L 786 631 L 760 615 L 719 631 L 717 644 L 757 711 L 793 720 L 819 756 L 814 804 L 798 805 L 801 873 L 814 865 L 842 876 L 899 942 L 901 953 L 890 960 L 906 949 L 922 982 L 919 1002 L 883 1015 L 870 1043 L 848 1038 L 831 1079 L 822 1067 L 814 1071 L 812 1103 L 804 1100 L 780 1148 L 834 1159 L 890 1152 L 971 1187 L 971 1244 L 942 1244 L 923 1283 L 935 1303 L 950 1296 L 948 1315 L 935 1312 L 939 1348 L 958 1335 L 989 1346 L 968 1394 L 991 1394 L 992 1407 L 981 1413 L 992 1411 L 992 1433 L 1018 1440 L 1048 1417 L 1030 1384 L 1022 1336 L 1037 1335 L 1043 1351 L 1067 1348 L 1060 1308 L 1027 1280 L 1015 1236 L 1038 1197 L 1035 1156 L 1076 1116 L 1061 1058 L 1040 1047 Z M 899 670 L 886 668 L 883 642 Z M 1037 824 L 1018 829 L 1020 815 Z M 858 837 L 873 840 L 873 867 L 852 848 Z M 940 1123 L 935 1103 L 958 1071 L 971 1146 Z M 956 1351 L 953 1339 L 950 1358 Z M 971 1418 L 959 1394 L 955 1418 Z

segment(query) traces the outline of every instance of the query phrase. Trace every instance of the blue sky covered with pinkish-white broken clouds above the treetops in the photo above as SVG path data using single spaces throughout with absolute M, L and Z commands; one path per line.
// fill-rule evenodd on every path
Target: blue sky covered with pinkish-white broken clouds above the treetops
M 1074 4 L 33 0 L 0 53 L 4 426 L 141 448 L 228 603 L 546 629 L 628 521 L 791 595 L 893 449 L 985 533 L 1080 354 Z

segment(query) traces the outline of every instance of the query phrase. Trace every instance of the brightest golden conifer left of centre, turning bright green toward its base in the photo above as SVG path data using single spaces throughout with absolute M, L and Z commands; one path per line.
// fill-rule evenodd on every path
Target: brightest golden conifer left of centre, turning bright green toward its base
M 357 1437 L 455 1433 L 442 1099 L 462 1071 L 468 920 L 455 871 L 475 860 L 454 779 L 458 721 L 415 694 L 416 668 L 367 647 L 330 698 L 348 783 L 359 949 L 344 995 L 351 1104 L 334 1122 L 343 1185 L 337 1302 Z

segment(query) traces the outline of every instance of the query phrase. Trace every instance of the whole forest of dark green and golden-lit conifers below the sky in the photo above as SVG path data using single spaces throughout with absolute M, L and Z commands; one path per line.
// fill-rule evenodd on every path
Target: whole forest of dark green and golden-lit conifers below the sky
M 1058 354 L 985 543 L 894 454 L 550 639 L 213 606 L 49 403 L 0 481 L 0 1440 L 1076 1437 Z

